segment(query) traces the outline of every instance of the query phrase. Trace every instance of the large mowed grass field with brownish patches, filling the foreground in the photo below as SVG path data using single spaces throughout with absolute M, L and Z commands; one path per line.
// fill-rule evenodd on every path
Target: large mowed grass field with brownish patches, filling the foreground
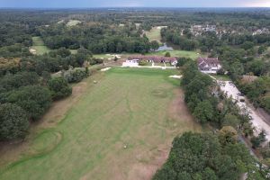
M 201 130 L 184 106 L 179 80 L 167 77 L 175 73 L 104 72 L 63 120 L 33 140 L 30 148 L 39 153 L 2 168 L 0 179 L 150 179 L 177 134 Z

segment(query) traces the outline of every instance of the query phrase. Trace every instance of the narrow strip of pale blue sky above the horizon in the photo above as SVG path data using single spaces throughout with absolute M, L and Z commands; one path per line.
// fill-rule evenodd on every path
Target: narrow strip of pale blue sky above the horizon
M 270 0 L 0 0 L 0 7 L 270 7 Z

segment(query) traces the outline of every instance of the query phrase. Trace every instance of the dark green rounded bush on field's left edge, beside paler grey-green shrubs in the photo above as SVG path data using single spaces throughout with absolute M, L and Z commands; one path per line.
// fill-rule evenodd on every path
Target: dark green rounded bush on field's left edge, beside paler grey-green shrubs
M 62 76 L 51 78 L 48 85 L 53 100 L 62 99 L 72 94 L 72 88 Z

